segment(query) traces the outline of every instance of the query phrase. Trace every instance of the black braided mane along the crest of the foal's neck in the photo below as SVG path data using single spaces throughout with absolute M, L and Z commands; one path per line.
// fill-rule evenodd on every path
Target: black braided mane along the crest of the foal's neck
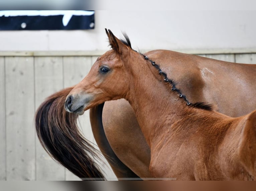
M 141 55 L 143 55 L 143 54 L 141 54 Z M 189 102 L 189 101 L 187 100 L 186 96 L 183 95 L 183 94 L 181 93 L 181 91 L 176 88 L 175 83 L 174 83 L 171 79 L 168 79 L 168 78 L 167 78 L 166 73 L 163 72 L 163 71 L 160 69 L 159 65 L 157 65 L 154 61 L 150 60 L 147 56 L 145 56 L 145 55 L 143 55 L 143 56 L 144 56 L 144 58 L 145 58 L 146 60 L 148 60 L 149 62 L 151 62 L 151 64 L 158 70 L 159 74 L 164 77 L 163 81 L 166 82 L 166 83 L 171 84 L 171 86 L 172 86 L 171 91 L 177 92 L 179 98 L 184 99 L 184 100 L 186 101 L 186 104 L 187 104 L 187 105 L 193 106 L 193 107 L 196 107 L 196 108 L 200 108 L 200 109 L 209 110 L 209 111 L 213 110 L 213 105 L 212 105 L 212 104 L 205 103 L 205 102 L 197 102 L 197 103 L 191 103 L 191 102 Z

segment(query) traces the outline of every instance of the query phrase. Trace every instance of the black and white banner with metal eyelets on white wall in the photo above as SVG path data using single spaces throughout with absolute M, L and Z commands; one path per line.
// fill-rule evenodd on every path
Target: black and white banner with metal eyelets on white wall
M 0 30 L 94 29 L 95 11 L 0 11 Z

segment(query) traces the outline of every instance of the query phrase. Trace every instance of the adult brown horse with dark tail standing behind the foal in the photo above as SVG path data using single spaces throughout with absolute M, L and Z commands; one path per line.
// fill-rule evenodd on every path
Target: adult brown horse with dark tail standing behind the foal
M 128 38 L 125 44 L 130 46 Z M 251 104 L 255 102 L 255 85 L 253 82 L 256 79 L 255 75 L 252 75 L 256 72 L 254 65 L 227 63 L 163 50 L 151 51 L 146 53 L 146 55 L 161 64 L 161 68 L 167 72 L 168 76 L 175 79 L 177 82 L 176 87 L 182 89 L 184 95 L 187 95 L 188 100 L 191 102 L 208 101 L 215 103 L 220 112 L 231 116 L 239 116 L 255 108 L 255 104 Z M 250 76 L 251 79 L 249 79 L 248 76 Z M 44 147 L 48 149 L 52 155 L 55 155 L 54 157 L 57 160 L 60 160 L 61 155 L 63 158 L 63 153 L 61 154 L 60 152 L 59 156 L 56 155 L 56 150 L 52 148 L 52 143 L 50 143 L 47 135 L 43 136 L 42 132 L 53 129 L 49 127 L 58 127 L 60 130 L 56 134 L 61 141 L 62 138 L 60 134 L 67 132 L 67 130 L 62 131 L 61 128 L 65 127 L 68 129 L 72 126 L 74 127 L 72 128 L 74 129 L 72 135 L 74 135 L 74 137 L 80 137 L 75 130 L 76 117 L 68 118 L 67 116 L 71 116 L 70 114 L 60 112 L 63 108 L 65 97 L 71 90 L 72 88 L 69 88 L 52 95 L 40 106 L 38 109 L 39 112 L 37 112 L 36 127 L 39 139 L 42 140 Z M 229 95 L 232 95 L 232 97 Z M 244 100 L 244 102 L 241 102 L 241 100 Z M 50 111 L 54 111 L 54 109 L 58 108 L 61 114 L 58 114 L 58 112 L 50 112 L 48 108 L 51 108 Z M 103 105 L 99 105 L 92 108 L 90 117 L 97 144 L 103 153 L 112 157 L 110 164 L 117 177 L 136 177 L 130 169 L 140 177 L 150 177 L 148 171 L 150 162 L 149 147 L 144 140 L 129 103 L 124 99 L 107 101 L 104 107 Z M 51 120 L 54 122 L 49 124 L 48 119 L 51 118 L 54 118 L 54 120 Z M 60 121 L 62 121 L 61 124 Z M 66 121 L 67 124 L 64 121 Z M 104 134 L 103 126 L 108 140 Z M 68 139 L 67 137 L 71 136 L 70 134 L 69 132 L 64 133 L 63 137 Z M 78 148 L 82 148 L 85 141 L 81 138 L 76 139 L 74 137 L 70 138 L 73 141 L 70 149 L 74 150 L 76 145 Z M 55 140 L 54 144 L 58 145 L 58 142 Z M 140 146 L 138 147 L 138 145 Z M 114 152 L 111 148 L 114 149 Z M 79 149 L 79 152 L 83 153 L 85 151 Z M 116 157 L 115 154 L 118 157 Z M 76 159 L 74 161 L 79 161 L 78 158 L 82 158 L 85 155 L 86 153 L 81 154 L 81 156 L 77 155 L 80 157 L 77 157 L 75 154 L 72 156 Z M 78 167 L 71 167 L 69 163 L 65 163 L 65 161 L 60 162 L 78 176 L 87 177 L 74 170 L 78 169 Z M 77 164 L 77 166 L 79 165 L 81 165 L 81 161 Z M 81 168 L 80 171 L 83 171 L 83 169 Z

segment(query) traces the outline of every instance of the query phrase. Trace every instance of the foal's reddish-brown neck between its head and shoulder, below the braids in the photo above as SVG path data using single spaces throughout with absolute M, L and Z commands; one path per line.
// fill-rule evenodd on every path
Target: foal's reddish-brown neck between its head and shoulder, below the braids
M 183 118 L 188 107 L 178 93 L 171 91 L 168 83 L 149 61 L 132 65 L 133 83 L 126 95 L 149 146 L 159 134 L 166 132 L 174 122 Z

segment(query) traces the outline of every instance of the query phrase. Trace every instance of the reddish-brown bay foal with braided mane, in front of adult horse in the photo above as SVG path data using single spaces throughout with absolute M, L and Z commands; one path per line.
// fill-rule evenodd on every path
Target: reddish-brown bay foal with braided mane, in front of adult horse
M 255 178 L 255 112 L 232 118 L 190 103 L 156 63 L 106 32 L 112 50 L 67 96 L 67 111 L 83 114 L 104 101 L 127 99 L 150 147 L 153 177 Z

